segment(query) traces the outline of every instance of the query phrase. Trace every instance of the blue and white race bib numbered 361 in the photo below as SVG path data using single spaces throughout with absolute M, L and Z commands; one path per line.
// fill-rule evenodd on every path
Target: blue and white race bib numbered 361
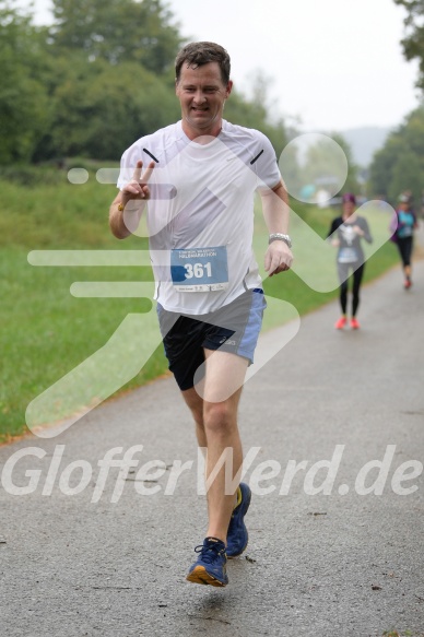
M 216 292 L 228 287 L 226 246 L 170 250 L 170 276 L 178 292 Z

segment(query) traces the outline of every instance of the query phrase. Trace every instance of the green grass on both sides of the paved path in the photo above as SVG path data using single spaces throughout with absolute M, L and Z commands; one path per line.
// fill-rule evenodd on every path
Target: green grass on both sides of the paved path
M 48 184 L 34 184 L 34 179 L 32 185 L 2 181 L 1 190 L 0 440 L 7 441 L 26 432 L 25 410 L 34 399 L 94 356 L 127 315 L 149 312 L 152 307 L 143 298 L 78 298 L 70 293 L 72 283 L 139 282 L 151 281 L 152 276 L 150 268 L 145 267 L 34 267 L 28 263 L 27 255 L 33 250 L 83 249 L 98 250 L 101 255 L 104 250 L 146 248 L 144 238 L 130 237 L 119 241 L 110 235 L 107 214 L 116 188 L 99 185 L 94 173 L 91 173 L 87 184 L 80 186 L 70 185 L 66 174 L 59 173 Z M 321 237 L 326 236 L 334 216 L 333 210 L 309 207 L 296 207 L 296 212 Z M 267 246 L 267 234 L 259 215 L 255 231 L 259 262 Z M 303 250 L 302 237 L 295 240 L 297 259 Z M 367 263 L 366 281 L 380 275 L 397 260 L 393 247 L 384 245 Z M 329 263 L 331 266 L 327 267 L 333 273 L 333 252 Z M 267 279 L 264 290 L 268 295 L 294 305 L 301 316 L 338 295 L 337 290 L 326 293 L 311 290 L 294 272 Z M 154 350 L 154 354 L 120 391 L 143 385 L 166 371 L 162 344 L 154 344 L 158 331 L 152 317 L 154 312 L 145 314 L 140 323 L 142 328 L 136 330 L 142 333 L 138 334 L 139 341 L 134 335 L 132 346 L 139 347 L 136 356 L 140 356 L 143 344 Z M 281 320 L 281 317 L 266 312 L 264 329 L 280 325 Z M 68 396 L 58 385 L 54 409 L 45 412 L 50 415 L 47 421 L 69 415 L 79 400 L 79 391 L 84 394 L 86 390 L 86 396 L 102 398 L 108 369 L 115 369 L 119 364 L 118 359 L 105 354 L 101 368 L 98 365 L 96 368 L 98 379 L 93 384 L 87 384 L 83 377 L 76 379 L 75 396 L 71 391 Z

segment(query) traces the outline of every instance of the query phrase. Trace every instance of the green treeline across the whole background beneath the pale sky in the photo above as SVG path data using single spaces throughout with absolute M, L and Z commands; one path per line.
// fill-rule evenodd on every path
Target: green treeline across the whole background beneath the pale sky
M 48 26 L 36 26 L 32 13 L 15 4 L 0 0 L 1 175 L 15 164 L 67 157 L 118 161 L 136 139 L 180 117 L 174 60 L 187 40 L 163 0 L 52 0 Z M 417 0 L 414 11 L 417 15 L 410 9 L 409 37 L 402 44 L 408 59 L 420 58 L 417 85 L 424 87 L 424 32 L 417 25 L 424 0 Z M 258 74 L 251 84 L 251 98 L 233 91 L 225 117 L 262 130 L 280 156 L 295 131 L 282 118 L 270 118 L 267 81 Z M 349 161 L 343 190 L 357 192 L 358 167 L 351 150 L 340 135 L 329 135 Z M 285 176 L 295 190 L 322 184 L 329 163 L 321 158 L 327 155 L 326 149 L 309 149 L 301 169 L 293 153 Z M 422 198 L 424 107 L 389 135 L 362 190 L 392 203 L 403 190 L 411 190 L 415 201 Z

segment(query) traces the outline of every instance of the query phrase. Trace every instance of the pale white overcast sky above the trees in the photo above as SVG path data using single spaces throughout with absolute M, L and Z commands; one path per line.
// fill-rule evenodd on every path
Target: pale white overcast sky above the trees
M 26 0 L 21 4 L 28 5 Z M 400 40 L 404 10 L 393 0 L 170 0 L 187 40 L 223 45 L 235 85 L 249 93 L 260 71 L 275 115 L 303 131 L 397 127 L 419 105 L 417 63 Z M 49 0 L 35 0 L 36 22 Z

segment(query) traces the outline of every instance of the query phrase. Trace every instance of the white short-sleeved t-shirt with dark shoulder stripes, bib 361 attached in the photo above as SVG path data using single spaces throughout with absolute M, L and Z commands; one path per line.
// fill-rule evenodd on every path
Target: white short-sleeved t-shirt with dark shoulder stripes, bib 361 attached
M 118 188 L 139 160 L 144 168 L 155 162 L 145 213 L 154 298 L 169 311 L 200 315 L 260 287 L 254 194 L 281 179 L 268 138 L 224 120 L 203 144 L 190 141 L 178 121 L 123 153 Z

